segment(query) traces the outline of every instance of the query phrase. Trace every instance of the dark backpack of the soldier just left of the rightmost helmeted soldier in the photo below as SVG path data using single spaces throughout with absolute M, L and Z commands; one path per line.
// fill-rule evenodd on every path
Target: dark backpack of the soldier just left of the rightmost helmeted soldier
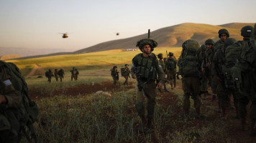
M 237 41 L 235 44 L 228 46 L 225 50 L 226 62 L 222 65 L 222 71 L 226 79 L 226 87 L 234 88 L 231 69 L 234 64 L 240 60 L 242 49 L 245 49 L 248 45 L 247 41 Z

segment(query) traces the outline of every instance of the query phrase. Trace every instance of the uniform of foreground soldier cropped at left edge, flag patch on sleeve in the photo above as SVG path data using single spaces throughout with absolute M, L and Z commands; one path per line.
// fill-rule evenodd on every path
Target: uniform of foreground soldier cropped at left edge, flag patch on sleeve
M 9 69 L 0 61 L 0 142 L 17 142 L 20 129 L 19 120 L 24 115 L 22 104 L 22 81 L 12 77 Z M 3 99 L 4 98 L 4 99 Z M 12 119 L 6 116 L 12 117 Z

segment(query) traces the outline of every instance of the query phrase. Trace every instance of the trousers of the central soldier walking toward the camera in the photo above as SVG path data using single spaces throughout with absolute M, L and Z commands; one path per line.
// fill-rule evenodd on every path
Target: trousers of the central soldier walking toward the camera
M 155 97 L 157 95 L 155 81 L 143 84 L 143 92 L 145 96 L 143 95 L 142 91 L 139 91 L 139 89 L 137 89 L 135 108 L 140 117 L 145 116 L 144 102 L 145 99 L 147 99 L 147 118 L 153 119 L 155 109 Z

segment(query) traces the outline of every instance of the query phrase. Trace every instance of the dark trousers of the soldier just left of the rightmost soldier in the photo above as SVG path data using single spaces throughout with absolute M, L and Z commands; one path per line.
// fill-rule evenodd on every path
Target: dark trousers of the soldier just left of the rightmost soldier
M 217 87 L 217 94 L 219 97 L 220 106 L 223 108 L 229 107 L 230 97 L 233 96 L 234 107 L 236 107 L 236 109 L 237 109 L 238 108 L 237 96 L 238 96 L 239 92 L 234 91 L 234 89 L 232 89 L 232 88 L 226 89 L 224 86 L 225 85 L 222 85 L 221 83 L 219 83 L 218 87 Z

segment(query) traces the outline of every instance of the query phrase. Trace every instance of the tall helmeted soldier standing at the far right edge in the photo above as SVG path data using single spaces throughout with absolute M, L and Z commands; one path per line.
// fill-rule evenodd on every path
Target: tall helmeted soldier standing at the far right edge
M 234 87 L 240 93 L 237 94 L 239 100 L 239 117 L 241 118 L 242 130 L 245 130 L 246 116 L 247 116 L 247 104 L 249 100 L 252 101 L 250 109 L 250 118 L 252 119 L 251 135 L 255 136 L 255 112 L 256 112 L 256 98 L 255 98 L 255 35 L 256 31 L 252 34 L 252 26 L 244 26 L 241 29 L 241 36 L 243 41 L 237 41 L 237 49 L 239 50 L 238 58 L 234 59 L 235 65 L 232 67 L 232 79 L 234 80 Z M 250 36 L 252 35 L 251 41 Z M 237 50 L 236 50 L 237 51 Z M 231 54 L 235 54 L 234 51 L 230 51 Z M 238 62 L 237 62 L 238 61 Z M 248 66 L 248 64 L 250 66 Z M 252 69 L 251 69 L 252 67 Z M 238 73 L 238 74 L 236 74 Z M 237 77 L 238 76 L 238 77 Z M 240 78 L 242 77 L 242 78 Z M 254 81 L 253 81 L 254 80 Z M 253 92 L 250 91 L 252 89 Z

